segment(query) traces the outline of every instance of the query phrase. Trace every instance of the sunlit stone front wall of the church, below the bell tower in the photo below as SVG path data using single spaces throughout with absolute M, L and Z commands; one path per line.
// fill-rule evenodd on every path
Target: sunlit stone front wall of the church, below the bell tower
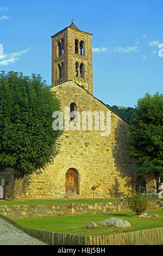
M 73 81 L 53 87 L 61 101 L 62 113 L 70 103 L 82 111 L 110 111 L 101 101 Z M 82 120 L 81 120 L 82 122 Z M 92 198 L 93 185 L 97 198 L 119 197 L 131 191 L 136 165 L 126 149 L 129 124 L 111 111 L 111 135 L 101 136 L 101 131 L 64 131 L 59 154 L 54 164 L 43 170 L 41 175 L 24 178 L 22 198 Z M 66 194 L 66 172 L 78 172 L 79 193 Z M 5 177 L 5 173 L 0 174 Z M 9 178 L 9 175 L 8 175 Z M 6 180 L 6 179 L 5 179 Z M 10 198 L 13 175 L 4 188 L 5 198 Z

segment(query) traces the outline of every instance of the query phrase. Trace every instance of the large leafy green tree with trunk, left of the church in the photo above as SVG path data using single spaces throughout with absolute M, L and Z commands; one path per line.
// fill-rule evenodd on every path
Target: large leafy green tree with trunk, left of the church
M 40 75 L 0 73 L 0 170 L 14 169 L 11 199 L 21 198 L 24 175 L 41 173 L 58 153 L 62 131 L 52 129 L 60 102 Z

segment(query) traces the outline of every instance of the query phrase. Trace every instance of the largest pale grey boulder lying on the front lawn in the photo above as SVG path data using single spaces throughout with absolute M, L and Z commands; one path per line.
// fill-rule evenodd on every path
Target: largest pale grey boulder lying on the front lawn
M 128 228 L 131 227 L 131 224 L 128 221 L 123 221 L 119 218 L 108 218 L 104 221 L 99 222 L 100 225 L 105 225 L 105 226 L 111 226 L 113 225 L 116 228 Z

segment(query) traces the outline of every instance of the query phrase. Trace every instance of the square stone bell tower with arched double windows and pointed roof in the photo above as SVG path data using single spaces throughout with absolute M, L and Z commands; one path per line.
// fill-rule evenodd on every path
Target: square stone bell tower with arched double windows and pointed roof
M 51 38 L 52 87 L 73 80 L 93 94 L 92 34 L 72 21 Z

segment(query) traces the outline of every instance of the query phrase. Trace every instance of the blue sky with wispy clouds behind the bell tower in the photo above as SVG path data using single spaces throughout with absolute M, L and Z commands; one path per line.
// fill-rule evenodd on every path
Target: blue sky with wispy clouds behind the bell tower
M 162 93 L 162 8 L 162 0 L 1 0 L 0 70 L 41 74 L 51 84 L 51 35 L 73 17 L 93 34 L 94 95 L 134 107 L 145 93 Z

